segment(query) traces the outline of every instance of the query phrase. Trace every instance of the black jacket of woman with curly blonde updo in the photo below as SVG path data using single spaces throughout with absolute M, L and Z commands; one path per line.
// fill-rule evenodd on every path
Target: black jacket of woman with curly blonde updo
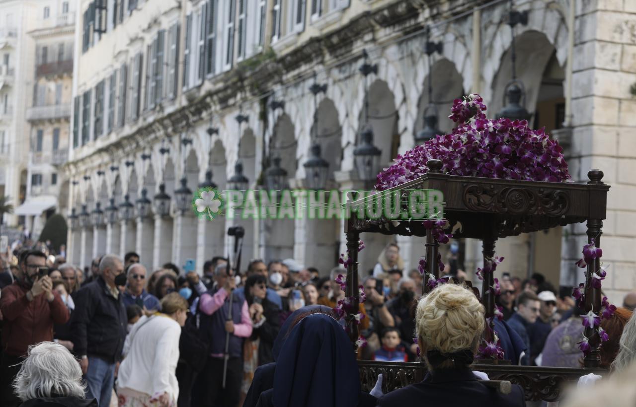
M 420 383 L 393 390 L 378 399 L 378 407 L 403 407 L 425 400 L 428 407 L 523 407 L 523 390 L 516 384 L 510 394 L 486 387 L 469 369 L 440 370 L 426 374 Z

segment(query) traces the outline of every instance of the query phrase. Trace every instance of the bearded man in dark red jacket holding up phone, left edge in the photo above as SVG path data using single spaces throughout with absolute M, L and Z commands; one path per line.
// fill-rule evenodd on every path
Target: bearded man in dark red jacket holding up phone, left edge
M 69 310 L 48 277 L 46 255 L 29 250 L 20 257 L 20 276 L 2 290 L 3 315 L 0 363 L 0 399 L 4 406 L 17 406 L 11 384 L 20 371 L 19 363 L 30 345 L 53 341 L 53 323 L 65 324 Z

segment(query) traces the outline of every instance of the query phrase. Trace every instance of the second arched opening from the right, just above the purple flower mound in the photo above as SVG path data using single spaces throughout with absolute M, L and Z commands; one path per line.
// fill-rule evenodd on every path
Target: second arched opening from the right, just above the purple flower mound
M 446 58 L 441 58 L 432 65 L 431 74 L 424 77 L 424 87 L 417 103 L 417 117 L 413 135 L 424 128 L 424 109 L 429 100 L 429 76 L 432 79 L 432 102 L 438 112 L 438 129 L 449 133 L 455 123 L 448 118 L 453 100 L 464 95 L 462 76 L 457 72 L 455 64 Z

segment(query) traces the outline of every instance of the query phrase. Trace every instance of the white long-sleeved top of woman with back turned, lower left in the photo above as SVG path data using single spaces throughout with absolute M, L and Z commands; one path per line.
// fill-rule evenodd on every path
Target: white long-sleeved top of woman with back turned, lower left
M 179 323 L 165 314 L 142 316 L 126 338 L 118 387 L 153 397 L 167 392 L 176 404 L 179 384 L 175 370 L 179 361 L 180 336 Z

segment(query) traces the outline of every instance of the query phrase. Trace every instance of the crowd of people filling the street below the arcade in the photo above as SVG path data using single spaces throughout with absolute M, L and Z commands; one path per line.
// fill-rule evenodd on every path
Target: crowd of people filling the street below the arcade
M 456 257 L 453 263 L 455 254 L 448 272 L 461 281 L 466 274 Z M 422 297 L 422 275 L 403 269 L 396 244 L 360 272 L 366 302 L 359 305 L 359 328 L 368 345 L 357 356 L 348 352 L 349 338 L 333 312 L 345 297 L 335 281 L 346 274 L 342 268 L 320 277 L 325 273 L 293 259 L 255 259 L 240 272 L 217 256 L 205 262 L 201 276 L 174 264 L 149 273 L 130 252 L 123 259 L 95 258 L 83 271 L 45 244 L 14 246 L 2 260 L 4 406 L 55 397 L 67 397 L 62 405 L 68 406 L 397 406 L 413 397 L 442 400 L 439 392 L 457 382 L 491 402 L 483 405 L 523 405 L 520 389 L 493 399 L 473 383 L 468 365 L 484 311 L 472 291 L 442 284 Z M 571 292 L 557 293 L 541 274 L 521 281 L 504 273 L 500 281 L 504 321 L 495 321 L 495 330 L 506 359 L 580 367 L 583 325 Z M 635 300 L 628 295 L 624 307 L 603 321 L 611 338 L 601 349 L 605 368 L 630 366 L 634 341 L 626 335 L 636 335 Z M 428 382 L 385 396 L 359 391 L 356 358 L 416 361 L 420 354 L 429 366 Z M 46 357 L 66 371 L 50 373 Z M 36 368 L 52 377 L 29 372 Z M 312 381 L 315 372 L 319 380 Z M 46 389 L 34 389 L 38 380 Z M 464 396 L 459 392 L 457 403 Z M 329 404 L 342 397 L 348 403 Z

